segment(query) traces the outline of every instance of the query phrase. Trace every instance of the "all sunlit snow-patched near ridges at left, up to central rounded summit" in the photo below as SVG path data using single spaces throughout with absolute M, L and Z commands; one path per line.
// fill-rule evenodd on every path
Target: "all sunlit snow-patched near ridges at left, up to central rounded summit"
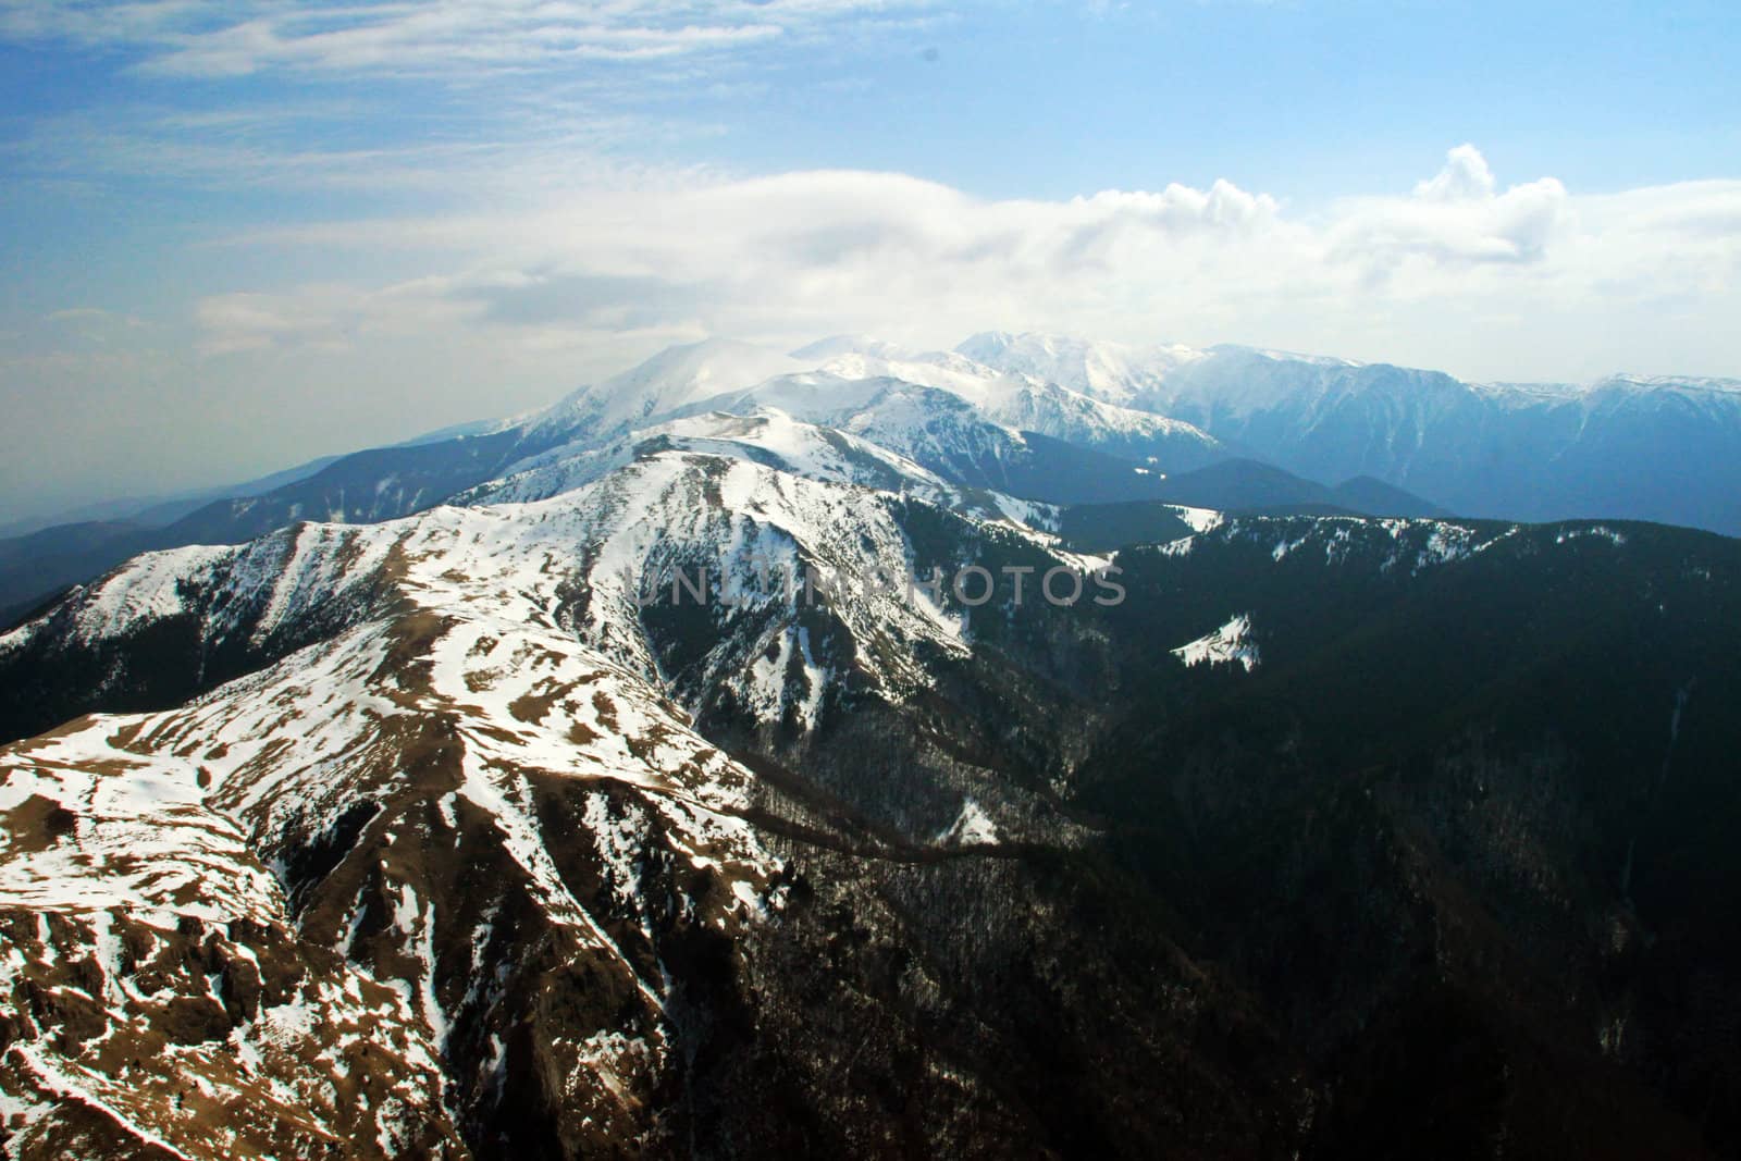
M 780 827 L 754 820 L 839 825 L 695 722 L 801 747 L 924 696 L 971 611 L 905 587 L 921 559 L 1097 564 L 1005 507 L 780 413 L 710 414 L 538 503 L 148 554 L 0 637 L 14 714 L 198 691 L 0 750 L 0 916 L 68 916 L 10 928 L 0 989 L 80 992 L 9 1025 L 17 1147 L 460 1156 L 524 1145 L 524 1117 L 566 1154 L 663 1147 L 682 1013 L 721 983 L 696 940 L 783 905 Z M 709 602 L 667 602 L 682 583 Z M 900 841 L 1048 813 L 945 780 Z M 188 956 L 204 973 L 155 966 Z M 211 1137 L 259 1086 L 273 1104 Z

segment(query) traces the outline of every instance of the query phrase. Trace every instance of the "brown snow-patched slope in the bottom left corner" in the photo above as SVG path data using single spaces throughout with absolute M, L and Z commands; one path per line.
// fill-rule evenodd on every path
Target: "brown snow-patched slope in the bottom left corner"
M 0 750 L 9 1156 L 465 1156 L 414 1013 L 298 938 L 200 768 L 132 728 Z

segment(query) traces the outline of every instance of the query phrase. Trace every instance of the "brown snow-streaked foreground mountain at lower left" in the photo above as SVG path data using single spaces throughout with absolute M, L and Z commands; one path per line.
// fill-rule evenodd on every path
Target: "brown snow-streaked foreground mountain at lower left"
M 0 802 L 38 820 L 0 851 L 0 910 L 56 917 L 14 924 L 0 989 L 77 997 L 10 1027 L 23 1156 L 463 1156 L 512 1116 L 505 1086 L 559 1102 L 585 1151 L 646 1131 L 635 1104 L 676 1067 L 660 940 L 778 905 L 778 862 L 740 820 L 750 775 L 656 689 L 467 597 L 454 557 L 418 567 L 468 533 L 310 531 L 266 554 L 280 571 L 183 550 L 68 609 L 66 649 L 178 618 L 263 639 L 301 602 L 355 623 L 172 712 L 0 752 Z M 249 630 L 239 606 L 266 613 Z

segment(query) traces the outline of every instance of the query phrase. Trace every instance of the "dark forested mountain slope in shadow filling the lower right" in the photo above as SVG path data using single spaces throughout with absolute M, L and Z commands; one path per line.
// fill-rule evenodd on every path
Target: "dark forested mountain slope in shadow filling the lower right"
M 1335 1062 L 1311 1152 L 1734 1151 L 1738 548 L 1240 517 L 1121 554 L 1126 634 L 1243 618 L 1260 660 L 1133 670 L 1083 804 Z

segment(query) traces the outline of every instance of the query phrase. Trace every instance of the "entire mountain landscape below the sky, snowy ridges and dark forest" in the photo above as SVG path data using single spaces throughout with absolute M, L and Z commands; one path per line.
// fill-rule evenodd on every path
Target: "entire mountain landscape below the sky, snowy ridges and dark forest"
M 1741 541 L 1381 472 L 1731 393 L 705 343 L 148 529 L 0 632 L 0 1151 L 1736 1156 Z

